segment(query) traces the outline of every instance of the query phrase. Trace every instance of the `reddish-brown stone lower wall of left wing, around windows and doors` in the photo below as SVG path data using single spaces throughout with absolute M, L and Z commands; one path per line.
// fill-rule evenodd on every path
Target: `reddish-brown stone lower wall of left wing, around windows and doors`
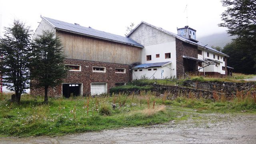
M 66 59 L 65 64 L 81 65 L 81 71 L 68 71 L 68 76 L 63 83 L 82 83 L 83 95 L 90 94 L 91 83 L 107 83 L 109 89 L 115 86 L 115 83 L 127 83 L 132 80 L 132 71 L 127 64 L 113 64 L 106 62 L 92 62 L 85 60 Z M 92 72 L 93 66 L 106 67 L 106 72 Z M 126 73 L 116 73 L 115 68 L 125 68 Z M 34 88 L 33 81 L 30 87 L 31 95 L 44 95 L 43 88 Z M 48 96 L 56 97 L 62 94 L 62 84 L 55 88 L 49 88 Z

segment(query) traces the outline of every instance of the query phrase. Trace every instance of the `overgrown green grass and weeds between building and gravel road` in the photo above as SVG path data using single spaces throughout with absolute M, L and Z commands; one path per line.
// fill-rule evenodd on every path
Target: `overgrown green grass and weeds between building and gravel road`
M 237 92 L 236 98 L 229 100 L 218 93 L 213 99 L 197 99 L 191 92 L 178 96 L 164 92 L 156 96 L 156 92 L 150 91 L 141 91 L 138 95 L 50 98 L 48 104 L 41 96 L 23 95 L 19 105 L 9 101 L 10 94 L 5 94 L 3 99 L 0 102 L 0 136 L 56 136 L 145 126 L 183 120 L 184 116 L 180 116 L 183 110 L 256 112 L 254 92 Z

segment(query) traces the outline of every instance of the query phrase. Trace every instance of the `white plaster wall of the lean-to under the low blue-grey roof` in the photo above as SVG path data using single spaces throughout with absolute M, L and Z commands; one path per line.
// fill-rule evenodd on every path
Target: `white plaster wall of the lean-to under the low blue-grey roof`
M 155 68 L 157 68 L 157 70 L 153 70 L 154 68 L 139 68 L 139 69 L 136 69 L 136 70 L 138 70 L 137 72 L 132 70 L 132 79 L 138 80 L 138 79 L 143 78 L 144 76 L 149 79 L 154 79 L 154 78 L 155 79 L 165 79 L 165 78 L 173 77 L 174 70 L 170 70 L 171 65 L 172 64 L 168 64 L 164 67 L 155 67 Z M 142 69 L 142 72 L 139 71 L 141 69 Z M 151 70 L 148 71 L 148 69 L 151 69 Z

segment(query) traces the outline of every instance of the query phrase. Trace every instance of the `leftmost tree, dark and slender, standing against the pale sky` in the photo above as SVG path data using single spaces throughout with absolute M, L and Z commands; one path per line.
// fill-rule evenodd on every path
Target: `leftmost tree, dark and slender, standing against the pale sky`
M 19 20 L 14 20 L 13 25 L 5 30 L 0 42 L 0 71 L 4 86 L 15 92 L 12 101 L 20 103 L 21 94 L 29 88 L 28 59 L 32 31 Z

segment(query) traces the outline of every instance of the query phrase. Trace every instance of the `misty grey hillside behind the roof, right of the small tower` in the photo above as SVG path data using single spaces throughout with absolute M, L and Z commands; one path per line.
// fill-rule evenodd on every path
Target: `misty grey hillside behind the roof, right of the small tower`
M 232 41 L 235 36 L 229 36 L 226 32 L 212 34 L 209 36 L 199 37 L 197 40 L 203 44 L 208 44 L 208 46 L 220 46 L 223 48 L 226 44 Z

